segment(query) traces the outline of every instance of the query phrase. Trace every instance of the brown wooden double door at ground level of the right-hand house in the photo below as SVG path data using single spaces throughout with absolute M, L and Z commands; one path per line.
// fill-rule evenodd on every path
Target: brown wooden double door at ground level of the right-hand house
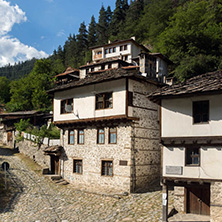
M 210 185 L 186 188 L 187 213 L 210 215 Z

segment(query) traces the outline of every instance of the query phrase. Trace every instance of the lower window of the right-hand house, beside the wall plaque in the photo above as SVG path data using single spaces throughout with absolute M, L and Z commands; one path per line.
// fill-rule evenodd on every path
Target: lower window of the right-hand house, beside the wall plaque
M 200 166 L 200 149 L 186 148 L 186 165 Z

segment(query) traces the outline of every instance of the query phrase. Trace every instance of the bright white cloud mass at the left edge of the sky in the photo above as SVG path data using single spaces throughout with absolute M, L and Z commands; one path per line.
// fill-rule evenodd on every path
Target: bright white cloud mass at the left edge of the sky
M 21 43 L 8 33 L 14 24 L 26 22 L 25 12 L 18 5 L 12 6 L 6 0 L 0 0 L 0 66 L 18 61 L 47 57 L 48 54 Z

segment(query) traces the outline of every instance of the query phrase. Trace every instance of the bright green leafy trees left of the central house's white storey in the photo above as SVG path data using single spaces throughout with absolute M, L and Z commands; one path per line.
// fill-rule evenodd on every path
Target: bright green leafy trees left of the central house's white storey
M 51 60 L 37 60 L 29 75 L 11 83 L 12 96 L 6 109 L 12 112 L 49 109 L 52 101 L 46 90 L 53 86 L 53 75 Z

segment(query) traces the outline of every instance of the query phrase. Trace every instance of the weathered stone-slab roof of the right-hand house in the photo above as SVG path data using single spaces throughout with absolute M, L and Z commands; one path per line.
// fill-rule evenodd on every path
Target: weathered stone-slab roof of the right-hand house
M 151 93 L 148 98 L 152 101 L 164 98 L 187 97 L 222 93 L 222 71 L 208 72 L 186 80 L 183 83 L 162 87 Z

